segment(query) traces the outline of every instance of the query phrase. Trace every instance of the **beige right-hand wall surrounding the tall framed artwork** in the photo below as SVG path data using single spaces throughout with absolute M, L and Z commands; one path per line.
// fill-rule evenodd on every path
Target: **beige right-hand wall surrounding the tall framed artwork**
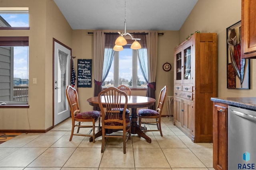
M 226 28 L 241 20 L 241 0 L 198 0 L 179 31 L 180 42 L 190 33 L 218 34 L 218 97 L 255 97 L 256 63 L 250 60 L 250 90 L 227 89 Z

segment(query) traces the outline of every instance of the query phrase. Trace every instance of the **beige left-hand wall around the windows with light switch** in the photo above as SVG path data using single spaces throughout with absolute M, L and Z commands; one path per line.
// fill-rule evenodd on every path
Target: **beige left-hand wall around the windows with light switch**
M 1 7 L 28 7 L 29 30 L 0 36 L 29 36 L 28 109 L 0 109 L 0 129 L 44 130 L 52 126 L 52 38 L 72 46 L 72 29 L 53 0 L 1 0 Z M 32 84 L 37 78 L 37 84 Z

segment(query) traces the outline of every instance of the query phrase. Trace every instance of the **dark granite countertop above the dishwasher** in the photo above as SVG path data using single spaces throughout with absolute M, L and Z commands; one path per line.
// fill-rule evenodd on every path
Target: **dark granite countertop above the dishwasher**
M 211 98 L 211 100 L 213 102 L 256 110 L 256 98 Z

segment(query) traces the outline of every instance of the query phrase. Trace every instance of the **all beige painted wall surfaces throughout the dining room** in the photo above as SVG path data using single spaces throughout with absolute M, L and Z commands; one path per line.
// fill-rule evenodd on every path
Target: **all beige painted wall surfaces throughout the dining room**
M 72 48 L 72 56 L 76 56 L 76 61 L 92 59 L 93 35 L 88 35 L 87 32 L 93 30 L 72 30 L 53 0 L 0 0 L 0 6 L 29 7 L 30 30 L 1 30 L 0 36 L 29 36 L 29 79 L 37 78 L 37 84 L 29 82 L 30 108 L 0 109 L 0 129 L 47 129 L 52 126 L 53 117 L 52 38 Z M 158 36 L 157 98 L 164 85 L 168 86 L 167 95 L 173 95 L 173 68 L 165 72 L 162 70 L 162 65 L 169 62 L 173 66 L 174 47 L 197 30 L 218 33 L 218 96 L 255 96 L 254 60 L 250 61 L 251 90 L 226 88 L 226 28 L 239 20 L 241 20 L 241 0 L 198 0 L 180 31 L 158 31 L 163 32 L 164 35 Z M 86 100 L 93 96 L 93 92 L 94 85 L 92 88 L 78 88 L 82 110 L 92 109 Z M 136 91 L 135 94 L 145 95 L 145 91 Z M 167 114 L 166 108 L 163 114 Z

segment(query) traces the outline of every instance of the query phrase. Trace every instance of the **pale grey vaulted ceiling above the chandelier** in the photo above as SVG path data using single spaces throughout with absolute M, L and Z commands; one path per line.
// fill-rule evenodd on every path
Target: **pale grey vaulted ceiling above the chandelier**
M 54 0 L 72 29 L 179 30 L 198 0 Z M 125 10 L 126 9 L 126 10 Z

